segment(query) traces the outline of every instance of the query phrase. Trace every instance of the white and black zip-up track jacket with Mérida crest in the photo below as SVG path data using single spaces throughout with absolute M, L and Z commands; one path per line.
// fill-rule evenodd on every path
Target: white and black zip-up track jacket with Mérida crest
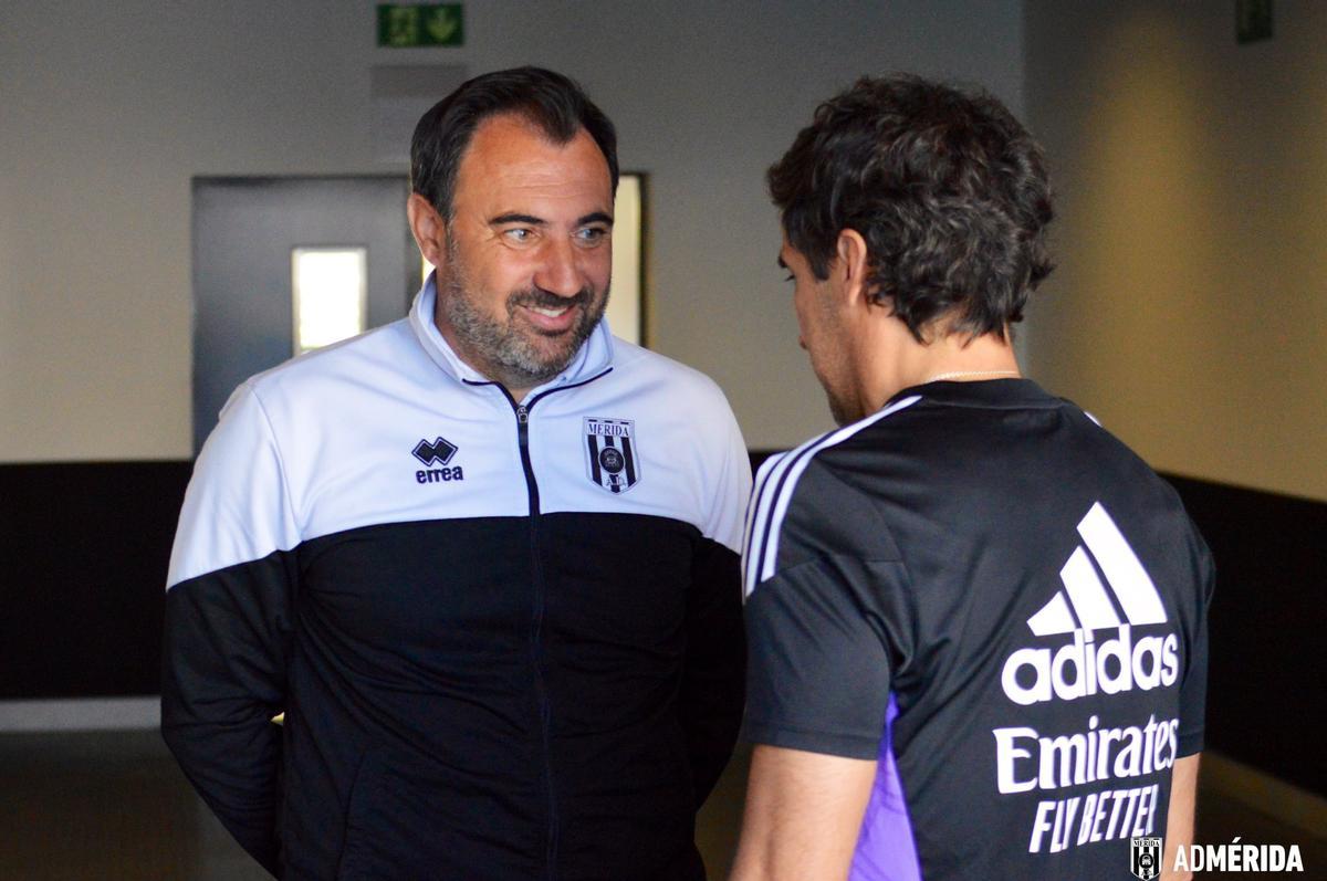
M 703 878 L 742 715 L 727 402 L 601 324 L 518 405 L 434 297 L 227 403 L 171 556 L 165 738 L 287 878 Z

